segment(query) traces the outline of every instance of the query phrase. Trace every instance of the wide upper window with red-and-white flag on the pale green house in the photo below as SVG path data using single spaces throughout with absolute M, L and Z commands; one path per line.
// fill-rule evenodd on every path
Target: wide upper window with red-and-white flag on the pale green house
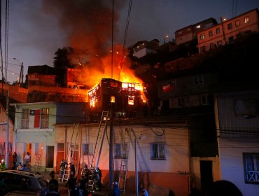
M 48 128 L 49 109 L 22 109 L 22 129 Z

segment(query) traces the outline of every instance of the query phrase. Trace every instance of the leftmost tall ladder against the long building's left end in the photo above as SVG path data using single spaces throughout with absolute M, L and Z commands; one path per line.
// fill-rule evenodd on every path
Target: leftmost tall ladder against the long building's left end
M 69 176 L 70 176 L 69 163 L 73 162 L 73 154 L 74 154 L 74 151 L 76 149 L 76 141 L 77 141 L 77 138 L 78 138 L 79 129 L 80 129 L 80 124 L 78 124 L 77 129 L 76 129 L 76 124 L 73 124 L 73 132 L 71 134 L 70 145 L 69 145 L 68 151 L 66 152 L 66 163 L 67 164 L 66 164 L 65 169 L 64 169 L 62 181 L 68 181 L 69 180 Z

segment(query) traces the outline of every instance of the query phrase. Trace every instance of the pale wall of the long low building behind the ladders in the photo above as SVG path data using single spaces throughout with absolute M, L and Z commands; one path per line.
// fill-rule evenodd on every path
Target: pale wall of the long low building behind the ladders
M 134 153 L 134 138 L 144 135 L 145 139 L 137 139 L 137 160 L 139 172 L 189 172 L 189 146 L 188 146 L 188 130 L 186 125 L 169 125 L 164 128 L 165 134 L 161 137 L 155 134 L 162 134 L 163 130 L 160 127 L 150 127 L 141 125 L 129 125 L 129 126 L 116 126 L 113 127 L 114 139 L 113 143 L 123 143 L 123 134 L 125 129 L 132 129 L 131 141 L 129 148 L 128 158 L 128 171 L 135 170 L 135 153 Z M 80 139 L 83 143 L 95 144 L 99 125 L 92 126 L 86 125 L 82 129 L 82 135 L 79 135 L 78 143 Z M 107 134 L 109 136 L 110 127 L 107 127 Z M 56 142 L 65 142 L 65 129 L 62 125 L 56 125 Z M 67 140 L 71 141 L 72 125 L 67 129 Z M 73 141 L 74 142 L 74 141 Z M 162 142 L 165 143 L 166 160 L 151 160 L 151 143 Z M 113 147 L 114 151 L 114 147 Z M 55 152 L 57 153 L 57 152 Z M 81 156 L 81 167 L 85 164 L 90 165 L 92 156 Z M 114 159 L 114 170 L 120 169 L 120 159 Z M 109 143 L 108 139 L 104 137 L 104 144 L 102 147 L 102 155 L 100 157 L 99 167 L 109 170 Z

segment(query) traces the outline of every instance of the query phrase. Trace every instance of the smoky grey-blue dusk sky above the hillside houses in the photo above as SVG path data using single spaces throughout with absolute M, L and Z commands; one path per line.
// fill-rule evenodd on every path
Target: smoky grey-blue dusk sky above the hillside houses
M 122 3 L 123 2 L 123 3 Z M 123 45 L 130 0 L 114 1 L 113 43 Z M 157 38 L 160 44 L 174 32 L 207 18 L 233 18 L 254 8 L 259 0 L 138 0 L 132 1 L 126 47 Z M 3 62 L 6 51 L 5 1 L 1 10 Z M 78 59 L 105 55 L 111 47 L 112 1 L 109 0 L 10 0 L 8 18 L 8 77 L 13 83 L 25 66 L 52 66 L 55 51 L 71 46 Z M 169 36 L 165 40 L 165 36 Z M 4 66 L 4 65 L 3 65 Z

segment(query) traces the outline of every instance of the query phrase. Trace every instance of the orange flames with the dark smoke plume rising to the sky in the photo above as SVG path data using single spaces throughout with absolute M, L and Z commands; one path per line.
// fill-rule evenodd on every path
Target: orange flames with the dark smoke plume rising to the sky
M 67 43 L 73 48 L 73 55 L 69 56 L 72 64 L 79 64 L 80 74 L 72 83 L 86 85 L 92 88 L 88 94 L 99 87 L 103 78 L 111 78 L 121 82 L 121 88 L 128 91 L 129 104 L 133 104 L 136 94 L 140 92 L 142 102 L 146 102 L 143 82 L 130 69 L 130 61 L 125 58 L 127 51 L 123 45 L 114 44 L 110 48 L 112 30 L 114 38 L 118 38 L 118 10 L 126 6 L 123 1 L 113 3 L 108 1 L 43 1 L 43 10 L 55 15 L 58 25 L 67 38 Z M 114 8 L 113 8 L 114 6 Z M 56 10 L 60 10 L 57 12 Z M 113 27 L 113 28 L 112 28 Z M 120 28 L 120 31 L 122 29 Z M 122 41 L 118 41 L 122 43 Z M 111 50 L 113 50 L 111 52 Z M 80 83 L 80 84 L 78 84 Z M 73 85 L 73 84 L 71 84 Z M 139 97 L 138 97 L 139 98 Z M 91 98 L 93 99 L 93 97 Z M 97 100 L 89 102 L 97 105 Z

